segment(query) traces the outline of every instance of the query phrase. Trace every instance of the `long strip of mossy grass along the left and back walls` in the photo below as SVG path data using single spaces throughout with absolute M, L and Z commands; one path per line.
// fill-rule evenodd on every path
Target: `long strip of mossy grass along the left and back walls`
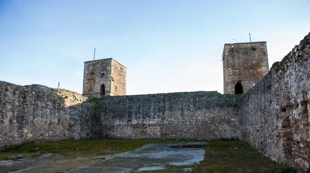
M 185 142 L 184 140 L 163 139 L 80 139 L 47 143 L 24 143 L 0 151 L 0 160 L 8 156 L 36 153 L 57 153 L 70 158 L 104 156 L 132 151 L 148 143 Z M 39 156 L 39 155 L 38 155 Z

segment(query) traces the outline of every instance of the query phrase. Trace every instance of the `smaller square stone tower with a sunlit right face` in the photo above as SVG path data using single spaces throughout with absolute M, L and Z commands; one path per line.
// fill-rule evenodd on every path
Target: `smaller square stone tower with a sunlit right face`
M 126 95 L 127 68 L 113 58 L 84 62 L 83 96 Z

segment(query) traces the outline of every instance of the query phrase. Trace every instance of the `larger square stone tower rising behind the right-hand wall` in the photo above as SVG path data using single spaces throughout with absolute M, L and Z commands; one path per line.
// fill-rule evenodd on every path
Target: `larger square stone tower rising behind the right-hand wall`
M 266 42 L 225 44 L 223 50 L 224 94 L 243 93 L 268 73 Z M 241 88 L 239 83 L 241 81 Z

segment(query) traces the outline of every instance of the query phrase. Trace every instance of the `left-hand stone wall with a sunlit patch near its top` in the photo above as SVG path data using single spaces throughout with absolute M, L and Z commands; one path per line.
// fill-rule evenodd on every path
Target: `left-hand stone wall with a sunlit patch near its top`
M 0 148 L 24 142 L 99 137 L 95 107 L 80 94 L 0 81 Z

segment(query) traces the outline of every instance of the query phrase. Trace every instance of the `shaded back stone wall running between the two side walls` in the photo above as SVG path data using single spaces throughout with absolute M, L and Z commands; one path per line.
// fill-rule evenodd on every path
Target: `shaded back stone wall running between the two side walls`
M 238 97 L 212 92 L 127 95 L 100 102 L 103 137 L 236 138 Z

